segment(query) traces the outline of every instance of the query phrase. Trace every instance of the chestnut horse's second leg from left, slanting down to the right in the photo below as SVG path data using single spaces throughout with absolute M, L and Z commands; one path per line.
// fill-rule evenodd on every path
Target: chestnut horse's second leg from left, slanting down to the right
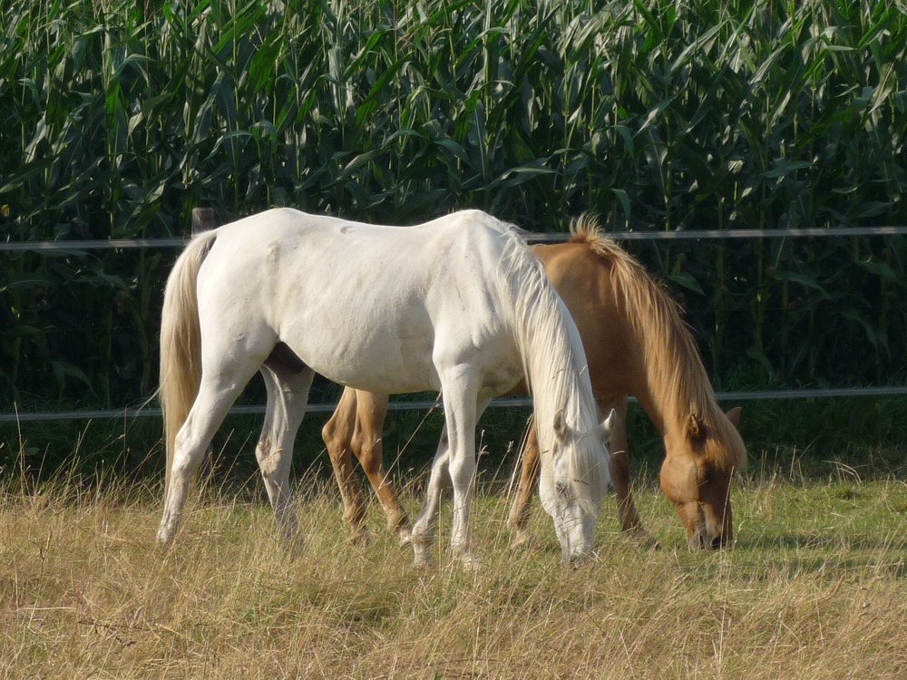
M 385 511 L 387 530 L 409 540 L 410 526 L 406 510 L 394 491 L 384 465 L 382 432 L 387 415 L 387 395 L 356 392 L 356 430 L 353 434 L 353 454 L 366 472 L 372 489 Z

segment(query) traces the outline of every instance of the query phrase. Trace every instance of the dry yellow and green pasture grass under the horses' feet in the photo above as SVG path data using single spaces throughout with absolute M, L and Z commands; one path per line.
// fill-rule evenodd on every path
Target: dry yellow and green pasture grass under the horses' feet
M 735 487 L 733 549 L 689 552 L 667 501 L 642 483 L 639 510 L 662 549 L 619 535 L 610 497 L 598 557 L 579 568 L 561 568 L 537 506 L 536 547 L 512 553 L 507 498 L 483 485 L 478 573 L 447 559 L 447 514 L 431 569 L 412 566 L 376 507 L 371 541 L 349 544 L 334 487 L 315 477 L 299 481 L 296 555 L 278 545 L 268 507 L 211 484 L 165 550 L 156 485 L 8 480 L 0 674 L 902 677 L 907 485 L 755 468 Z

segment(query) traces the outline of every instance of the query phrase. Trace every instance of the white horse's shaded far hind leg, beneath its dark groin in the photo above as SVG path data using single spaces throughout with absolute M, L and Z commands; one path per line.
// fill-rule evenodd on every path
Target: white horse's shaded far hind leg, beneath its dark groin
M 315 374 L 308 368 L 297 374 L 278 373 L 267 365 L 261 367 L 261 374 L 268 388 L 268 408 L 255 457 L 278 529 L 284 539 L 292 541 L 297 534 L 297 518 L 292 505 L 289 468 L 293 461 L 293 442 L 306 413 L 308 390 Z

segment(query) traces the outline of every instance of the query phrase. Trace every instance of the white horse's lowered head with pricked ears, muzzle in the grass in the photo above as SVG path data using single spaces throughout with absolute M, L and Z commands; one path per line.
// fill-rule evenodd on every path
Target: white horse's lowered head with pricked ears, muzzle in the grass
M 539 492 L 554 520 L 564 564 L 589 557 L 595 546 L 595 519 L 610 482 L 608 445 L 615 418 L 612 410 L 598 427 L 580 432 L 562 411 L 554 416 L 553 446 L 541 455 Z

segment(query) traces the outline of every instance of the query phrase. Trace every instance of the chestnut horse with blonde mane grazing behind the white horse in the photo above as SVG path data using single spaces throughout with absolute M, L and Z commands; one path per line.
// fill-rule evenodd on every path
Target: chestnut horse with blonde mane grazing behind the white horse
M 627 395 L 632 394 L 661 433 L 665 460 L 661 488 L 674 503 L 690 548 L 718 548 L 733 538 L 730 481 L 746 465 L 736 431 L 740 409 L 722 413 L 699 359 L 696 343 L 674 301 L 639 263 L 604 238 L 590 219 L 571 228 L 568 243 L 536 246 L 545 273 L 580 329 L 592 389 L 601 412 L 613 409 L 610 475 L 620 527 L 654 543 L 642 529 L 629 489 Z M 354 537 L 361 535 L 365 503 L 350 452 L 361 462 L 385 510 L 388 528 L 406 539 L 408 520 L 382 462 L 381 429 L 387 397 L 346 389 L 323 435 Z M 526 525 L 539 440 L 533 423 L 522 453 L 522 476 L 509 524 L 514 546 Z

